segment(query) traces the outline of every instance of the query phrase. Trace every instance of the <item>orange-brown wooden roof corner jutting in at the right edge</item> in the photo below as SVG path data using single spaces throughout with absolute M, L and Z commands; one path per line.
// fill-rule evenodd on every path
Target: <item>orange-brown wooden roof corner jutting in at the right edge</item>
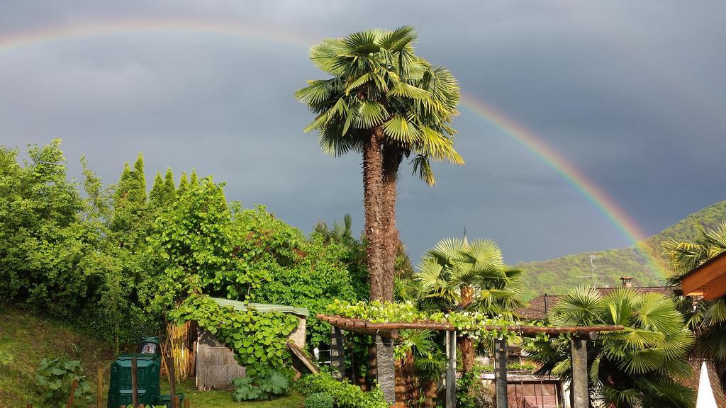
M 715 301 L 726 295 L 726 252 L 709 259 L 680 278 L 683 295 Z

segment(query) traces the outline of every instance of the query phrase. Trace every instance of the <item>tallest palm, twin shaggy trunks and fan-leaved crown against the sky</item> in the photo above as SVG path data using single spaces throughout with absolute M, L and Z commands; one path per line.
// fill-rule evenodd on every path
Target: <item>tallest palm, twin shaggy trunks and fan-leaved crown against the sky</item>
M 338 156 L 363 156 L 367 266 L 371 298 L 393 298 L 396 181 L 403 158 L 433 184 L 431 160 L 462 164 L 454 150 L 459 86 L 449 70 L 414 54 L 416 33 L 366 30 L 329 38 L 310 49 L 310 59 L 332 78 L 308 81 L 295 92 L 316 118 L 320 147 Z

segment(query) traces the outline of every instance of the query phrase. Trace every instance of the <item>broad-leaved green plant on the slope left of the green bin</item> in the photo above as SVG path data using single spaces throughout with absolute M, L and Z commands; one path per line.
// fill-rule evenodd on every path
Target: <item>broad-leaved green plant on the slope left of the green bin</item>
M 74 399 L 91 401 L 91 385 L 83 375 L 81 362 L 65 357 L 42 359 L 36 369 L 36 385 L 44 391 L 43 398 L 52 406 L 64 404 L 70 395 L 70 385 L 78 380 Z

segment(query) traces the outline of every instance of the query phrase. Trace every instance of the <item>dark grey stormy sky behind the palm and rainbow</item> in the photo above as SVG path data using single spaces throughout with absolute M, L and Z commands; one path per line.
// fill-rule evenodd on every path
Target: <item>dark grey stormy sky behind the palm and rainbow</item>
M 360 159 L 319 151 L 293 91 L 324 77 L 307 57 L 314 42 L 410 24 L 418 54 L 529 128 L 650 234 L 726 198 L 725 16 L 719 1 L 4 0 L 0 143 L 60 137 L 70 174 L 85 153 L 107 183 L 143 152 L 150 180 L 196 168 L 227 181 L 229 199 L 306 232 L 344 213 L 360 229 Z M 256 35 L 161 27 L 17 42 L 155 21 Z M 510 136 L 469 110 L 454 125 L 465 166 L 436 166 L 436 187 L 401 171 L 398 224 L 415 262 L 463 227 L 497 240 L 512 263 L 629 245 Z

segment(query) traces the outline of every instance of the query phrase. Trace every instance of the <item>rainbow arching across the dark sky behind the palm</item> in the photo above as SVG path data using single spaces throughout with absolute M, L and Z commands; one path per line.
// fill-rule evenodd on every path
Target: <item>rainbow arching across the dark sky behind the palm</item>
M 311 44 L 315 44 L 320 40 L 320 38 L 307 37 L 284 29 L 275 28 L 271 30 L 264 25 L 255 25 L 248 22 L 234 23 L 181 19 L 107 20 L 92 24 L 57 25 L 0 37 L 0 54 L 26 46 L 49 44 L 74 38 L 136 33 L 202 33 L 293 44 L 304 48 L 308 48 Z M 462 94 L 462 106 L 465 110 L 498 128 L 531 155 L 542 160 L 552 170 L 560 174 L 598 212 L 602 213 L 605 219 L 613 224 L 635 248 L 641 249 L 640 253 L 643 255 L 644 261 L 653 272 L 661 277 L 667 275 L 662 261 L 653 253 L 653 249 L 643 245 L 643 240 L 647 235 L 638 227 L 637 223 L 611 197 L 597 187 L 597 184 L 588 179 L 544 140 L 473 95 Z

